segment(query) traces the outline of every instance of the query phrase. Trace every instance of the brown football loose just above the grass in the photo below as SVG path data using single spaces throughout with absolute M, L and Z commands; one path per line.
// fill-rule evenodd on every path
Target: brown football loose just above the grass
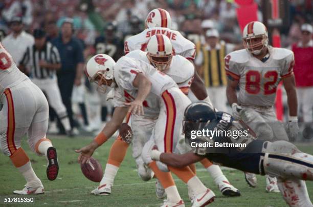
M 100 162 L 91 157 L 86 163 L 80 164 L 81 172 L 91 181 L 100 182 L 103 176 L 103 170 Z

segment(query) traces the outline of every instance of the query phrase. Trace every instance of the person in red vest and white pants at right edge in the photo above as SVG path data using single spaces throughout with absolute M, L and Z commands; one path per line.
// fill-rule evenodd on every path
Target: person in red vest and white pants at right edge
M 301 26 L 301 40 L 292 46 L 295 54 L 294 73 L 298 95 L 298 109 L 302 109 L 303 121 L 312 125 L 313 121 L 313 27 Z M 311 133 L 313 127 L 311 127 Z

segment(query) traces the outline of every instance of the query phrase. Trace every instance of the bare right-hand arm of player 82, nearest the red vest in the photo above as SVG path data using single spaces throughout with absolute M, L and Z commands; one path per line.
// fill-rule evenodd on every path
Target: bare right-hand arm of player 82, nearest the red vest
M 282 81 L 287 93 L 289 116 L 297 116 L 298 101 L 295 86 L 295 76 L 290 75 L 288 77 L 283 78 Z

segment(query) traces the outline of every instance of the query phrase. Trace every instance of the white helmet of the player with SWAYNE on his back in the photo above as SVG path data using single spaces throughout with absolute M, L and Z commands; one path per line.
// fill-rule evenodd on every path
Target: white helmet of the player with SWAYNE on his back
M 146 28 L 166 27 L 171 28 L 172 18 L 165 9 L 153 9 L 148 13 L 145 21 Z

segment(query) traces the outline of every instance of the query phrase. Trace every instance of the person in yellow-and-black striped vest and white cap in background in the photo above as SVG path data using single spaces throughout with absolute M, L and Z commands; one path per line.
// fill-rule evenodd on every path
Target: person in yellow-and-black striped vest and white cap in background
M 219 41 L 218 31 L 210 29 L 206 32 L 206 43 L 195 59 L 195 64 L 201 66 L 198 73 L 205 80 L 208 96 L 211 98 L 213 106 L 219 111 L 229 111 L 224 57 L 235 49 L 235 45 Z

